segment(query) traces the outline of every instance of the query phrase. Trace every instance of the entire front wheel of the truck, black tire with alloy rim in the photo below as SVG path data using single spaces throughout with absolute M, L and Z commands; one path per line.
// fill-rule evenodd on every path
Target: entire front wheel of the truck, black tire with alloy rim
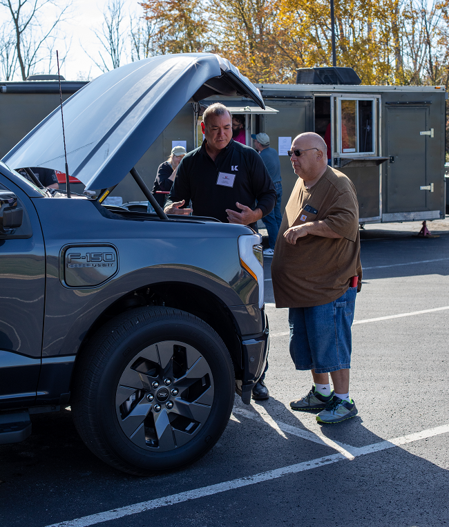
M 88 448 L 118 470 L 178 469 L 220 438 L 234 383 L 227 347 L 203 320 L 140 307 L 106 323 L 82 350 L 73 419 Z

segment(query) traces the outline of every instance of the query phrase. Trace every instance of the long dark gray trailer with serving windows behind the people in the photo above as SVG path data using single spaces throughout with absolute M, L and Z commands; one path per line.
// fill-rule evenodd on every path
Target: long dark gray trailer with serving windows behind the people
M 444 218 L 444 86 L 363 86 L 355 84 L 359 77 L 350 68 L 299 70 L 298 82 L 311 84 L 258 85 L 265 110 L 245 97 L 225 94 L 184 105 L 137 162 L 137 170 L 151 188 L 157 166 L 175 144 L 187 151 L 199 146 L 201 111 L 219 100 L 245 115 L 247 144 L 251 133 L 269 135 L 280 155 L 283 209 L 296 182 L 287 150 L 296 135 L 315 131 L 329 145 L 332 166 L 354 182 L 362 224 Z M 58 106 L 59 90 L 54 81 L 0 84 L 2 157 Z M 63 98 L 84 84 L 62 82 Z M 74 186 L 75 191 L 83 188 Z M 142 200 L 129 175 L 111 196 L 137 208 Z

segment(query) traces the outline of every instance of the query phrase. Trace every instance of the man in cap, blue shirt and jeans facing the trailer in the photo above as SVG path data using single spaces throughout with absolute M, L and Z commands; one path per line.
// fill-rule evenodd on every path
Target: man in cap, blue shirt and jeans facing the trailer
M 269 146 L 269 137 L 266 133 L 258 133 L 257 135 L 252 134 L 251 137 L 254 139 L 254 148 L 260 153 L 260 157 L 262 157 L 262 161 L 265 163 L 269 177 L 273 181 L 274 188 L 276 189 L 276 205 L 269 214 L 262 218 L 262 222 L 264 222 L 265 227 L 267 227 L 269 243 L 269 248 L 265 249 L 263 253 L 265 256 L 273 256 L 280 223 L 283 220 L 280 213 L 280 200 L 283 195 L 283 187 L 280 183 L 279 155 L 274 148 Z

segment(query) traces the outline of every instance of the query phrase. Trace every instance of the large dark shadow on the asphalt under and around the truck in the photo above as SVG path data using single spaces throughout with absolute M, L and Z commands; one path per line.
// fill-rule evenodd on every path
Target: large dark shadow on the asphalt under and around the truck
M 310 415 L 293 415 L 276 399 L 260 405 L 275 421 L 312 430 Z M 35 417 L 27 441 L 0 448 L 2 527 L 43 527 L 334 453 L 327 445 L 290 434 L 282 437 L 269 425 L 242 417 L 240 423 L 230 421 L 216 447 L 195 465 L 135 478 L 97 460 L 77 436 L 67 410 Z M 383 441 L 363 426 L 359 416 L 323 426 L 321 432 L 355 446 Z M 448 521 L 447 496 L 447 470 L 395 447 L 115 520 L 111 526 L 175 527 L 180 518 L 182 524 L 195 527 L 257 527 L 260 522 L 292 527 L 443 526 Z

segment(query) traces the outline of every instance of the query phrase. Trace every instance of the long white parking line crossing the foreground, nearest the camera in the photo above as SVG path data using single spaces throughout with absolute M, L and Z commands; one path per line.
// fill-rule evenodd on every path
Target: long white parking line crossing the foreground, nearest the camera
M 449 425 L 438 426 L 437 428 L 423 430 L 423 432 L 397 437 L 391 439 L 390 441 L 381 441 L 380 443 L 373 443 L 372 445 L 367 445 L 365 447 L 353 448 L 352 453 L 355 457 L 364 454 L 372 454 L 373 452 L 379 452 L 380 450 L 393 448 L 397 445 L 403 445 L 405 443 L 411 443 L 412 441 L 419 441 L 420 439 L 426 439 L 439 434 L 446 434 L 447 432 L 449 432 Z M 172 494 L 162 498 L 142 501 L 139 504 L 128 505 L 113 510 L 106 510 L 105 512 L 98 512 L 97 514 L 84 516 L 82 518 L 73 520 L 61 521 L 59 524 L 52 524 L 47 527 L 89 527 L 91 525 L 101 524 L 104 521 L 111 521 L 113 519 L 135 515 L 139 512 L 146 512 L 147 510 L 154 510 L 160 507 L 180 504 L 191 499 L 198 499 L 219 494 L 220 492 L 227 492 L 227 490 L 235 490 L 236 488 L 247 487 L 249 485 L 254 485 L 255 483 L 262 483 L 262 481 L 271 481 L 272 479 L 288 476 L 291 474 L 298 474 L 298 472 L 312 470 L 312 468 L 322 467 L 331 463 L 345 460 L 347 460 L 347 458 L 340 453 L 332 454 L 330 456 L 318 457 L 317 459 L 312 459 L 312 461 L 303 461 L 303 463 L 296 463 L 294 465 L 276 468 L 275 470 L 260 472 L 254 476 L 231 479 L 230 481 L 216 483 L 216 485 L 195 488 L 193 490 L 187 490 L 187 492 L 179 492 L 178 494 Z

